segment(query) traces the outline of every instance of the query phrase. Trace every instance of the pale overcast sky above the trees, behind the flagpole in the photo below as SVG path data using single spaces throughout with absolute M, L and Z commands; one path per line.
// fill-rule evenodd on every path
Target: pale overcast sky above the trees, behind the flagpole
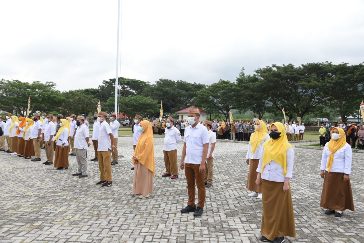
M 117 0 L 0 0 L 0 79 L 116 76 Z M 120 75 L 211 84 L 272 64 L 364 61 L 364 1 L 122 1 Z

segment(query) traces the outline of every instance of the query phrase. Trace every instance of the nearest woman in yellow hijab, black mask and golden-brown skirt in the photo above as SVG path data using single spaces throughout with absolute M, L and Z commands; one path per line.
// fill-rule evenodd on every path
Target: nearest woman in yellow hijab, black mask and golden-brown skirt
M 284 236 L 296 237 L 289 179 L 293 177 L 293 148 L 287 141 L 285 126 L 270 126 L 270 138 L 263 143 L 256 184 L 261 185 L 263 215 L 261 240 L 283 242 Z

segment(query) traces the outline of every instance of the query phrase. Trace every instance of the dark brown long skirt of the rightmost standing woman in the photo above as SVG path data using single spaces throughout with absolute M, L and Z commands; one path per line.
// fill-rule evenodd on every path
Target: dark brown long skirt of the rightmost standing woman
M 343 181 L 344 173 L 325 171 L 320 206 L 330 210 L 354 211 L 350 179 Z

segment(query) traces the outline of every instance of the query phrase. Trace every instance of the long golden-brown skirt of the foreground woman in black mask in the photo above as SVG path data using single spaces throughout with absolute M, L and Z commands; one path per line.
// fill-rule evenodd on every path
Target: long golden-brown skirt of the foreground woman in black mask
M 283 192 L 284 182 L 262 179 L 263 216 L 261 233 L 268 240 L 296 237 L 291 190 Z

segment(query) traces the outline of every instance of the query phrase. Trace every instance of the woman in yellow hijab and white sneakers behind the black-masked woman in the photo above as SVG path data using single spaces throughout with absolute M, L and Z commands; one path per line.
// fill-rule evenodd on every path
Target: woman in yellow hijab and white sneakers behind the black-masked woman
M 233 125 L 234 126 L 234 125 Z M 267 130 L 267 124 L 262 120 L 256 120 L 254 123 L 255 132 L 250 135 L 248 151 L 246 153 L 246 163 L 249 165 L 248 180 L 246 188 L 252 191 L 249 197 L 262 199 L 262 189 L 255 183 L 257 179 L 257 168 L 259 164 L 260 152 L 263 150 L 263 143 L 270 139 Z

